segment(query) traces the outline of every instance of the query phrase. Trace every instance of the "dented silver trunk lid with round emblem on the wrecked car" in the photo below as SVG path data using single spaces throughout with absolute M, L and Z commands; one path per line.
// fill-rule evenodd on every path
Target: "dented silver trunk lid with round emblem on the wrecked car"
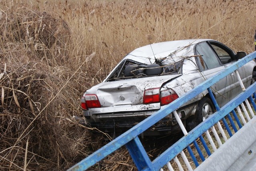
M 103 82 L 86 91 L 96 94 L 100 108 L 91 108 L 93 113 L 110 113 L 160 109 L 160 103 L 143 104 L 144 90 L 161 87 L 164 83 L 181 76 L 174 74 L 146 78 L 126 79 L 115 82 Z

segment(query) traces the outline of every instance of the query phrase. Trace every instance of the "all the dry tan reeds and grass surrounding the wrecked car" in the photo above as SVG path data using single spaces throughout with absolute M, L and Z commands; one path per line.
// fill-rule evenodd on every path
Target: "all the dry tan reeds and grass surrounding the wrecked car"
M 103 145 L 73 115 L 131 50 L 212 38 L 254 50 L 254 0 L 0 0 L 0 167 L 65 170 Z M 5 67 L 6 66 L 6 67 Z M 115 161 L 115 162 L 114 162 Z M 121 149 L 92 170 L 136 170 Z

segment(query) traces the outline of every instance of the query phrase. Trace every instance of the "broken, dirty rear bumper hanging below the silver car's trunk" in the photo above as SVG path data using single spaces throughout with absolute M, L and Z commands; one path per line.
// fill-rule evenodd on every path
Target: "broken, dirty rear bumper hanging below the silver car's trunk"
M 190 115 L 194 115 L 196 111 L 197 103 L 193 103 L 186 107 L 182 107 L 177 110 L 180 119 L 186 126 L 186 119 Z M 100 131 L 106 133 L 123 133 L 134 125 L 143 121 L 150 115 L 154 114 L 158 110 L 145 110 L 145 111 L 131 111 L 131 112 L 116 112 L 116 113 L 99 113 L 91 114 L 84 110 L 85 122 L 84 125 L 91 128 L 97 128 Z M 170 113 L 159 122 L 152 125 L 144 135 L 166 135 L 176 134 L 180 131 L 180 127 L 177 124 L 175 117 Z

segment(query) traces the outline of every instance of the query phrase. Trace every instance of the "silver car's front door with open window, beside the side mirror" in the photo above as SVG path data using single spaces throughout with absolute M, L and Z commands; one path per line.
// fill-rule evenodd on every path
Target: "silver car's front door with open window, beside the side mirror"
M 230 50 L 225 45 L 215 41 L 210 42 L 210 44 L 225 67 L 228 67 L 237 61 L 234 55 L 234 52 L 232 52 L 232 50 Z M 239 68 L 238 73 L 241 79 L 243 80 L 243 82 L 245 83 L 246 82 L 245 68 L 244 67 Z M 242 92 L 242 88 L 240 87 L 240 84 L 235 72 L 232 72 L 230 74 L 230 78 L 231 78 L 230 79 L 230 99 L 233 99 L 234 97 L 236 97 L 236 95 Z

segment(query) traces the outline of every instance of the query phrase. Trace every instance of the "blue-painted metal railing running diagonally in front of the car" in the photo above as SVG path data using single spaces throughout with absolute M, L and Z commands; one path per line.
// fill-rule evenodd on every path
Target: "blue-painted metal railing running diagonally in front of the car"
M 216 100 L 214 98 L 214 95 L 211 90 L 211 86 L 221 80 L 222 78 L 226 77 L 228 74 L 234 72 L 244 64 L 250 62 L 256 58 L 256 52 L 253 52 L 252 54 L 249 54 L 248 56 L 244 57 L 241 60 L 238 60 L 237 62 L 234 62 L 232 65 L 228 66 L 225 70 L 222 72 L 216 74 L 216 76 L 206 80 L 204 83 L 198 85 L 191 91 L 187 92 L 182 97 L 179 97 L 169 105 L 166 105 L 166 107 L 160 109 L 150 117 L 146 118 L 142 122 L 138 123 L 134 127 L 132 127 L 130 130 L 126 131 L 104 147 L 100 148 L 96 152 L 92 153 L 87 158 L 83 159 L 70 169 L 68 171 L 83 171 L 91 167 L 92 165 L 96 164 L 98 161 L 104 159 L 107 155 L 113 153 L 120 147 L 126 145 L 126 148 L 128 149 L 136 167 L 138 170 L 160 170 L 166 163 L 168 164 L 168 168 L 171 167 L 168 163 L 172 159 L 174 159 L 179 153 L 183 153 L 184 149 L 187 149 L 192 160 L 194 161 L 195 166 L 197 167 L 199 165 L 196 157 L 194 157 L 193 151 L 190 148 L 190 144 L 193 143 L 196 147 L 196 150 L 198 151 L 198 154 L 202 161 L 204 161 L 205 157 L 202 154 L 202 151 L 198 147 L 198 143 L 195 141 L 196 139 L 200 139 L 204 149 L 206 150 L 206 153 L 208 156 L 211 155 L 211 152 L 207 146 L 207 144 L 204 141 L 204 137 L 202 134 L 206 132 L 208 129 L 213 127 L 218 121 L 222 121 L 226 131 L 228 132 L 228 135 L 232 136 L 232 131 L 237 132 L 237 129 L 240 129 L 242 127 L 242 124 L 240 123 L 240 120 L 238 116 L 236 115 L 236 112 L 234 109 L 238 107 L 243 101 L 246 99 L 250 99 L 252 102 L 252 105 L 254 109 L 256 110 L 256 105 L 254 103 L 254 100 L 252 99 L 252 94 L 254 94 L 254 97 L 256 97 L 256 94 L 254 93 L 256 91 L 255 84 L 251 85 L 246 89 L 246 91 L 240 93 L 236 98 L 232 99 L 229 103 L 224 105 L 221 109 L 218 107 L 218 104 L 216 103 Z M 211 115 L 206 121 L 200 123 L 197 127 L 195 127 L 192 131 L 189 133 L 186 133 L 184 137 L 182 137 L 179 141 L 174 143 L 171 147 L 169 147 L 164 153 L 159 155 L 154 161 L 151 161 L 148 157 L 142 143 L 140 142 L 140 139 L 138 136 L 146 131 L 149 127 L 160 121 L 165 116 L 169 115 L 173 111 L 175 111 L 178 107 L 182 106 L 184 103 L 190 101 L 190 99 L 194 98 L 196 95 L 200 94 L 204 90 L 208 90 L 210 97 L 216 107 L 216 112 L 214 115 Z M 234 119 L 236 120 L 236 124 L 238 125 L 238 128 L 236 127 L 236 124 L 232 120 L 232 117 L 230 116 L 230 112 L 232 112 Z M 225 116 L 228 118 L 228 121 L 226 121 Z M 229 125 L 231 125 L 232 129 L 230 129 Z M 214 127 L 212 128 L 214 129 Z M 225 135 L 224 135 L 225 136 Z M 220 142 L 221 143 L 221 142 Z M 182 157 L 183 158 L 183 157 Z M 185 159 L 186 161 L 186 159 Z M 188 166 L 188 168 L 190 168 Z M 189 169 L 190 170 L 190 169 Z

